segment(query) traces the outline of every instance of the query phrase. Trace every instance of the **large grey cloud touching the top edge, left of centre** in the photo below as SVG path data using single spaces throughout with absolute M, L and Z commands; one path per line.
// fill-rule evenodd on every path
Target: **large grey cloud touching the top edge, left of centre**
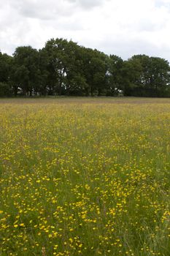
M 104 0 L 7 0 L 10 7 L 23 17 L 53 20 L 61 16 L 72 16 L 80 10 L 100 6 Z

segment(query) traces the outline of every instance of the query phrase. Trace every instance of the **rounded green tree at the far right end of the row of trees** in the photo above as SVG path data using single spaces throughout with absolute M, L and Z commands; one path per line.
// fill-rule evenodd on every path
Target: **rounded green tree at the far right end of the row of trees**
M 128 90 L 125 94 L 145 97 L 163 97 L 169 91 L 169 62 L 146 55 L 133 56 L 126 62 Z

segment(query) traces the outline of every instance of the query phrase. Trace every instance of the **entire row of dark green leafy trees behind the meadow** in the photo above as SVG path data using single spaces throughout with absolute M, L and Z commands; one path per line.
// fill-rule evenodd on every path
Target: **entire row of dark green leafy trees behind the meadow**
M 170 66 L 158 57 L 123 61 L 72 40 L 50 39 L 40 50 L 0 52 L 0 97 L 19 95 L 170 97 Z

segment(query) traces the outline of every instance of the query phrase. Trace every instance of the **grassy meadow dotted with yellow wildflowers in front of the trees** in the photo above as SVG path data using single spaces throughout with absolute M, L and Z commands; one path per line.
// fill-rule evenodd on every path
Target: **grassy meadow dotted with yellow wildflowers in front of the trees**
M 0 99 L 0 255 L 170 255 L 170 99 Z

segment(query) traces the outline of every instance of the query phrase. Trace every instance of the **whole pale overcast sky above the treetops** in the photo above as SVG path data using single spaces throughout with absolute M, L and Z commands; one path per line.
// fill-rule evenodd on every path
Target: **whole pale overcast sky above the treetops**
M 123 59 L 147 54 L 170 62 L 170 0 L 0 0 L 0 50 L 39 49 L 72 39 Z

